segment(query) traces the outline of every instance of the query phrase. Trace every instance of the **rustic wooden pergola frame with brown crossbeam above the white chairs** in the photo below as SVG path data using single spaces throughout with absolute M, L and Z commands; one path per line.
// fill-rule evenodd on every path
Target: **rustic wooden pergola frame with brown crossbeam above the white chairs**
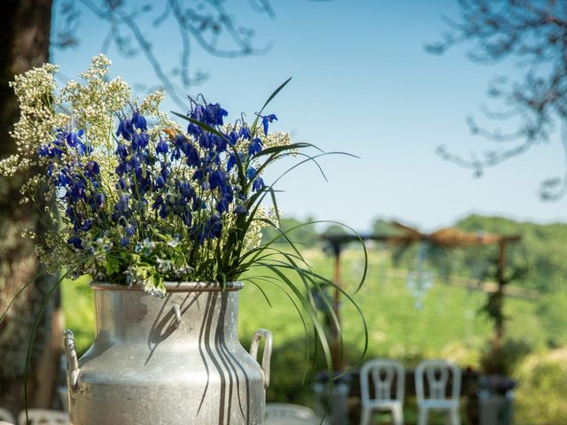
M 521 240 L 519 235 L 493 235 L 485 233 L 470 233 L 463 232 L 458 228 L 441 228 L 431 234 L 422 233 L 415 228 L 410 228 L 397 221 L 392 221 L 392 226 L 399 230 L 398 234 L 395 235 L 366 235 L 366 236 L 355 236 L 355 235 L 323 235 L 322 240 L 328 243 L 333 255 L 335 256 L 335 267 L 333 274 L 333 282 L 339 288 L 341 286 L 340 280 L 340 259 L 341 252 L 343 248 L 348 243 L 363 241 L 375 241 L 386 243 L 390 246 L 409 246 L 414 243 L 431 243 L 433 245 L 439 246 L 441 248 L 462 248 L 468 246 L 482 246 L 482 245 L 496 245 L 498 247 L 498 257 L 495 262 L 496 274 L 495 281 L 497 283 L 496 290 L 491 294 L 493 297 L 493 302 L 498 303 L 498 305 L 503 305 L 504 300 L 504 288 L 509 282 L 505 278 L 505 268 L 506 268 L 506 254 L 507 247 L 509 243 L 517 243 Z M 337 321 L 340 323 L 340 291 L 335 288 L 333 292 L 333 311 L 337 317 Z M 344 366 L 345 359 L 341 359 L 340 355 L 340 345 L 338 339 L 338 328 L 331 326 L 332 328 L 332 341 L 331 341 L 331 356 L 333 360 L 333 367 L 335 370 L 341 370 Z M 501 344 L 504 335 L 503 322 L 496 323 L 495 325 L 495 338 L 494 344 Z

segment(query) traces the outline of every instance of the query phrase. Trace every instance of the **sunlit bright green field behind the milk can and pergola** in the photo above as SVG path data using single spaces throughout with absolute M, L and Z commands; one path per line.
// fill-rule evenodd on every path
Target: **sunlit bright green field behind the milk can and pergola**
M 304 255 L 315 271 L 330 277 L 332 259 L 317 249 L 307 250 Z M 360 279 L 362 259 L 360 251 L 344 252 L 342 283 L 346 290 L 353 290 Z M 387 357 L 414 367 L 420 359 L 441 357 L 451 359 L 461 367 L 478 368 L 480 353 L 492 335 L 491 323 L 478 313 L 486 295 L 450 282 L 434 280 L 431 290 L 423 296 L 423 306 L 416 308 L 416 298 L 406 286 L 404 271 L 392 269 L 389 256 L 384 251 L 369 251 L 368 277 L 363 288 L 354 296 L 368 324 L 366 359 Z M 63 288 L 66 326 L 74 330 L 77 346 L 84 351 L 94 333 L 90 290 L 82 281 L 65 282 Z M 263 290 L 271 306 L 252 284 L 241 292 L 241 341 L 247 346 L 256 328 L 270 329 L 275 338 L 275 351 L 268 400 L 312 404 L 310 381 L 314 372 L 307 368 L 303 383 L 307 344 L 298 313 L 276 286 L 268 284 L 263 286 Z M 540 321 L 537 308 L 537 301 L 507 298 L 507 335 L 526 342 L 533 352 L 543 352 L 548 330 Z M 345 303 L 342 315 L 346 356 L 353 364 L 361 355 L 364 330 L 352 305 Z M 533 385 L 537 390 L 538 383 Z M 522 406 L 518 409 L 521 412 Z M 532 423 L 517 419 L 520 419 L 517 423 Z

